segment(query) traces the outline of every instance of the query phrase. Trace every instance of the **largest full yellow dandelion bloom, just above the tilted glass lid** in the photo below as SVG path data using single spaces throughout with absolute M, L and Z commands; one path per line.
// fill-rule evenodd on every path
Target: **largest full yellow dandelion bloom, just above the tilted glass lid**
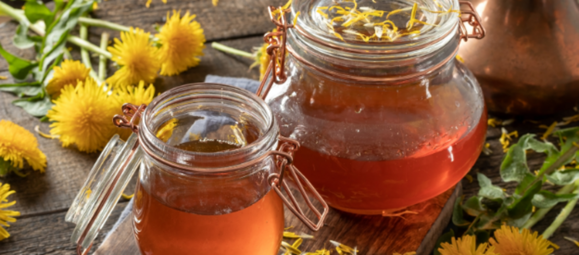
M 53 121 L 50 134 L 59 136 L 63 147 L 76 144 L 79 151 L 102 150 L 116 131 L 112 116 L 118 112 L 113 97 L 107 96 L 93 79 L 65 86 L 46 116 Z

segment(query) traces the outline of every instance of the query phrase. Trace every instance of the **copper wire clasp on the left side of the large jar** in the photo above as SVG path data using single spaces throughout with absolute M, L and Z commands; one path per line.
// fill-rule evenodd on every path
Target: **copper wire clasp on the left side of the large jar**
M 267 10 L 269 10 L 269 17 L 277 28 L 273 32 L 268 32 L 263 37 L 263 41 L 269 44 L 266 52 L 270 60 L 261 84 L 259 85 L 259 89 L 255 93 L 262 99 L 265 99 L 274 82 L 281 84 L 287 80 L 284 72 L 285 41 L 287 39 L 288 29 L 294 27 L 293 24 L 288 24 L 285 18 L 285 13 L 289 12 L 289 9 L 284 10 L 284 8 L 281 7 L 276 9 L 273 6 L 269 6 Z M 270 74 L 273 74 L 271 78 L 269 77 Z

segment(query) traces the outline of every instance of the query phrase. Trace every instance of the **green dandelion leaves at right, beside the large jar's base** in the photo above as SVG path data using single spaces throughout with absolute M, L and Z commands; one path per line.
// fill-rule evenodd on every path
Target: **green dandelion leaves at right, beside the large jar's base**
M 559 138 L 560 148 L 549 141 L 535 139 L 534 134 L 525 134 L 509 148 L 501 163 L 500 175 L 503 181 L 518 184 L 514 192 L 493 185 L 488 177 L 478 173 L 478 195 L 466 200 L 457 199 L 453 223 L 466 228 L 466 235 L 486 236 L 488 239 L 490 232 L 502 224 L 531 228 L 557 203 L 567 202 L 565 209 L 543 232 L 544 238 L 548 239 L 579 199 L 579 169 L 564 167 L 574 160 L 579 162 L 579 128 L 562 129 L 554 135 Z M 541 168 L 535 172 L 531 172 L 527 165 L 527 152 L 530 151 L 547 155 Z M 547 184 L 559 186 L 560 190 L 556 193 L 544 190 Z

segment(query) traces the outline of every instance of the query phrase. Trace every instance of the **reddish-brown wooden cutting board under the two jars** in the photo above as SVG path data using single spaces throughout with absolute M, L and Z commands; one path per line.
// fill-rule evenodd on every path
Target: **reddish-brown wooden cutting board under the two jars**
M 333 247 L 329 240 L 334 240 L 356 246 L 358 254 L 390 255 L 416 251 L 417 255 L 426 255 L 432 252 L 438 237 L 448 225 L 453 205 L 461 194 L 462 185 L 459 183 L 429 201 L 408 208 L 418 214 L 404 214 L 402 217 L 360 216 L 330 209 L 324 227 L 317 232 L 310 231 L 285 209 L 285 225 L 294 226 L 292 232 L 315 236 L 303 241 L 300 246 L 303 252 L 313 252 L 323 247 L 329 249 Z M 307 207 L 305 203 L 302 205 L 302 208 Z M 313 217 L 313 214 L 309 216 Z M 131 216 L 126 217 L 94 254 L 140 254 L 131 219 Z M 285 241 L 294 242 L 290 239 Z

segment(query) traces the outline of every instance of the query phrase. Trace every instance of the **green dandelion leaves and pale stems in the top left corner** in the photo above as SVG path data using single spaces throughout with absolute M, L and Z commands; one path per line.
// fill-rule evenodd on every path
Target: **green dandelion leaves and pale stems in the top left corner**
M 17 83 L 2 84 L 0 90 L 14 93 L 20 99 L 13 104 L 22 107 L 33 116 L 45 116 L 52 108 L 50 96 L 46 93 L 46 85 L 52 77 L 53 67 L 59 65 L 70 53 L 65 48 L 66 43 L 79 46 L 83 63 L 91 68 L 89 51 L 100 55 L 98 73 L 91 68 L 91 76 L 98 82 L 106 77 L 106 61 L 112 54 L 107 51 L 108 34 L 103 34 L 101 45 L 97 46 L 87 41 L 87 26 L 94 25 L 111 28 L 118 31 L 129 31 L 128 27 L 104 20 L 91 19 L 87 14 L 92 11 L 97 0 L 55 0 L 51 10 L 41 1 L 28 0 L 24 10 L 14 9 L 0 2 L 0 13 L 12 17 L 19 23 L 13 44 L 17 48 L 34 47 L 34 60 L 22 59 L 7 52 L 0 45 L 0 55 L 8 62 L 9 72 Z M 79 35 L 71 35 L 71 31 L 80 23 Z M 35 35 L 31 35 L 34 32 Z M 33 81 L 31 81 L 31 78 Z

